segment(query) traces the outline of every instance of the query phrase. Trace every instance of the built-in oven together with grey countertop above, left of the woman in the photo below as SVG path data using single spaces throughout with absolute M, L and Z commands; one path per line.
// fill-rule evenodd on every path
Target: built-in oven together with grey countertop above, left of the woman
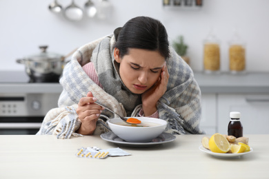
M 30 83 L 25 72 L 0 72 L 0 135 L 37 134 L 61 90 L 59 83 Z

